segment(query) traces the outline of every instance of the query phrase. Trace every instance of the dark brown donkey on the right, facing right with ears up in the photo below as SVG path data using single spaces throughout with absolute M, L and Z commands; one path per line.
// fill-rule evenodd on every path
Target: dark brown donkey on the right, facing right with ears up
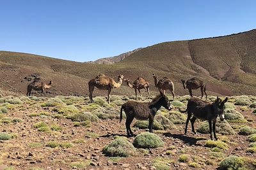
M 208 120 L 209 122 L 209 127 L 210 127 L 210 134 L 211 134 L 211 139 L 212 139 L 212 129 L 214 133 L 214 138 L 216 141 L 218 140 L 216 137 L 216 130 L 215 130 L 215 125 L 216 125 L 216 119 L 219 116 L 220 120 L 224 120 L 224 104 L 227 102 L 228 97 L 224 101 L 221 101 L 219 96 L 217 97 L 216 101 L 214 103 L 209 103 L 206 101 L 202 101 L 201 99 L 198 98 L 191 98 L 188 101 L 188 107 L 185 111 L 181 111 L 182 113 L 185 113 L 188 111 L 188 118 L 186 122 L 186 128 L 185 128 L 185 133 L 187 133 L 188 129 L 188 122 L 193 114 L 193 118 L 191 118 L 191 125 L 192 125 L 192 131 L 196 134 L 195 128 L 194 128 L 194 123 L 196 118 L 200 120 Z

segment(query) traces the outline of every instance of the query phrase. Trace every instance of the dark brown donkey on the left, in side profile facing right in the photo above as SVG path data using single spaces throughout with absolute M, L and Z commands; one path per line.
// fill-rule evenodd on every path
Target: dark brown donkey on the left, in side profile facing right
M 124 110 L 126 115 L 125 126 L 127 136 L 133 136 L 130 126 L 134 118 L 138 120 L 149 119 L 148 129 L 149 132 L 153 132 L 154 117 L 157 110 L 159 110 L 161 106 L 163 106 L 167 110 L 172 110 L 172 106 L 168 97 L 164 96 L 164 94 L 162 93 L 159 96 L 155 97 L 150 103 L 139 103 L 136 101 L 127 101 L 127 103 L 124 103 L 120 111 L 120 122 L 122 121 L 122 111 Z

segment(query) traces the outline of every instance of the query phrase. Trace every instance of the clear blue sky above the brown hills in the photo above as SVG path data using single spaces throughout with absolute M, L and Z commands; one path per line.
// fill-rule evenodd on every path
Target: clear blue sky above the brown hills
M 89 61 L 255 29 L 251 0 L 0 0 L 0 50 Z

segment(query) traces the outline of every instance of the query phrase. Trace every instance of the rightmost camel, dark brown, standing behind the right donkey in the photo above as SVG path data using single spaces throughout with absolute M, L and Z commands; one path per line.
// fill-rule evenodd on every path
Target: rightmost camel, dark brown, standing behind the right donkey
M 199 80 L 198 78 L 194 77 L 187 81 L 185 80 L 181 80 L 181 81 L 182 81 L 183 88 L 189 90 L 189 94 L 191 97 L 193 97 L 192 90 L 200 88 L 202 93 L 201 99 L 203 98 L 205 93 L 205 97 L 206 97 L 205 100 L 207 101 L 207 93 L 205 92 L 206 87 L 202 80 Z

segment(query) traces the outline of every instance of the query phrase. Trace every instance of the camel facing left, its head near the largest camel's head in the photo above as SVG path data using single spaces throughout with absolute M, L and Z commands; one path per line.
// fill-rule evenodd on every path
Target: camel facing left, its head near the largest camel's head
M 149 94 L 149 83 L 148 81 L 146 81 L 143 77 L 138 77 L 136 80 L 134 80 L 133 84 L 131 84 L 131 80 L 129 80 L 128 78 L 124 80 L 127 85 L 135 90 L 135 99 L 137 100 L 137 90 L 139 91 L 141 100 L 143 100 L 143 97 L 141 96 L 141 89 L 145 89 L 148 92 L 148 99 L 150 98 L 150 94 Z

